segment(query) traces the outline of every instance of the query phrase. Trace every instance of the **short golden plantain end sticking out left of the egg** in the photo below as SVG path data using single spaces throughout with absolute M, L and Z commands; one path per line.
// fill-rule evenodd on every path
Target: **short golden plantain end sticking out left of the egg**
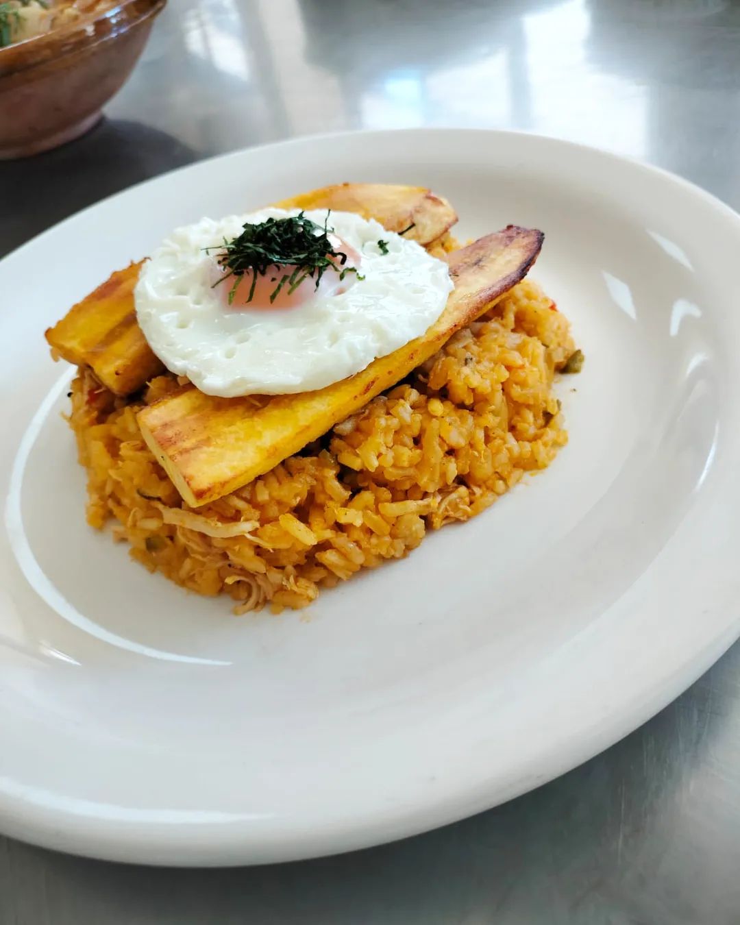
M 133 288 L 142 264 L 117 270 L 69 309 L 45 337 L 54 350 L 93 373 L 116 395 L 129 395 L 164 370 L 136 321 Z

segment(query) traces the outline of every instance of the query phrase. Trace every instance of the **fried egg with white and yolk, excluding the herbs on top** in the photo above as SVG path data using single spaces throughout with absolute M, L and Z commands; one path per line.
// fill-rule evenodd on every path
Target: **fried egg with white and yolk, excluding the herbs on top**
M 347 212 L 305 213 L 326 224 L 333 250 L 346 254 L 318 287 L 307 277 L 292 291 L 284 285 L 271 302 L 285 267 L 225 278 L 215 250 L 224 241 L 247 223 L 298 215 L 264 209 L 203 218 L 155 249 L 134 299 L 144 336 L 167 369 L 225 398 L 311 391 L 360 372 L 437 321 L 452 289 L 448 265 Z

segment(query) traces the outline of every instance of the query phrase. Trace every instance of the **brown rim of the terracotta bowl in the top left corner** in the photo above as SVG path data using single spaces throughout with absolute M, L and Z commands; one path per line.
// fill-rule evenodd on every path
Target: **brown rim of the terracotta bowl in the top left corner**
M 117 0 L 89 16 L 0 48 L 0 80 L 117 38 L 157 16 L 166 0 Z

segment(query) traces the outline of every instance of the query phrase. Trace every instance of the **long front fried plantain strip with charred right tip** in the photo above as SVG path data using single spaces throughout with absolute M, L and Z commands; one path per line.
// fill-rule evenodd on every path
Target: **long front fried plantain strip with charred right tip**
M 191 507 L 228 495 L 424 363 L 524 278 L 543 237 L 509 226 L 450 253 L 455 288 L 438 321 L 355 376 L 313 392 L 273 396 L 262 407 L 249 397 L 215 398 L 189 386 L 142 409 L 137 419 L 143 438 Z

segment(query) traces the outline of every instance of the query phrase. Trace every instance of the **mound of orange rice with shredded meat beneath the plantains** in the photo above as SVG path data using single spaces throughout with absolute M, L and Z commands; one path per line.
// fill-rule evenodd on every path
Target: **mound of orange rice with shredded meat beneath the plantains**
M 401 559 L 485 510 L 567 442 L 553 376 L 573 353 L 566 318 L 528 279 L 403 382 L 225 498 L 191 509 L 145 445 L 136 413 L 174 388 L 157 376 L 117 399 L 89 372 L 69 424 L 88 472 L 87 519 L 150 571 L 235 612 L 302 608 L 321 587 Z

